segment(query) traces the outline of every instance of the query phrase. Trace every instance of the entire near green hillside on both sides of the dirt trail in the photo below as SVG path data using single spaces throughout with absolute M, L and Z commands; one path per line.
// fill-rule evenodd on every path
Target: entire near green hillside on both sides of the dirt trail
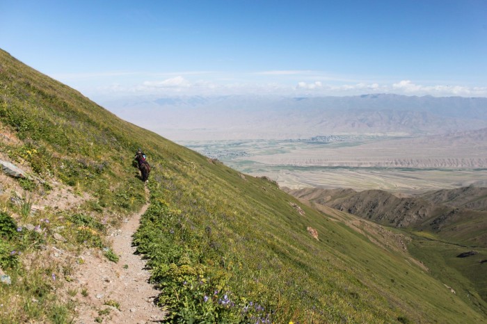
M 485 302 L 451 293 L 448 278 L 431 276 L 404 252 L 373 243 L 268 179 L 241 175 L 118 119 L 5 51 L 0 129 L 0 159 L 31 175 L 1 188 L 0 225 L 10 225 L 0 226 L 0 266 L 12 277 L 11 285 L 0 285 L 0 303 L 8 309 L 0 309 L 2 323 L 70 321 L 75 305 L 56 294 L 70 281 L 69 267 L 60 271 L 29 256 L 42 256 L 46 245 L 71 254 L 102 249 L 106 229 L 143 204 L 143 183 L 132 165 L 138 147 L 153 169 L 150 207 L 134 243 L 161 289 L 168 322 L 487 323 Z M 14 230 L 32 221 L 23 211 L 29 197 L 41 199 L 61 185 L 89 197 L 42 213 L 49 219 L 42 226 L 67 242 Z M 26 193 L 18 204 L 13 188 Z M 12 256 L 13 248 L 23 253 Z

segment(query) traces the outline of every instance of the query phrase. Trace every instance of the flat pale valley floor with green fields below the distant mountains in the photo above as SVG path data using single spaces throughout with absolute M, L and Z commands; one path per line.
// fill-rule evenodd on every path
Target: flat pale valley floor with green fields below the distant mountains
M 421 161 L 409 159 L 405 138 L 387 136 L 343 137 L 342 142 L 315 143 L 305 140 L 185 141 L 182 145 L 221 160 L 250 175 L 266 176 L 288 188 L 323 187 L 382 189 L 397 193 L 420 193 L 442 188 L 487 184 L 487 169 L 455 166 L 448 159 L 477 156 L 478 149 L 424 147 Z M 388 150 L 394 143 L 394 152 Z M 434 143 L 437 145 L 437 143 Z M 373 147 L 373 151 L 369 148 Z M 403 151 L 404 150 L 404 151 Z M 435 152 L 435 159 L 429 159 Z M 429 154 L 429 155 L 428 155 Z M 393 161 L 394 163 L 392 163 Z M 456 160 L 455 160 L 456 161 Z M 440 167 L 441 163 L 445 166 Z M 389 163 L 389 165 L 388 165 Z

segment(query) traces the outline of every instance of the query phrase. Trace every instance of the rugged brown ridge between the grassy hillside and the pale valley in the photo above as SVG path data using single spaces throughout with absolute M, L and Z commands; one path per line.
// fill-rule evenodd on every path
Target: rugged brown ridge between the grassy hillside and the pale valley
M 397 197 L 381 190 L 286 188 L 285 191 L 295 197 L 346 211 L 381 225 L 435 232 L 447 240 L 453 237 L 458 239 L 453 233 L 455 231 L 470 232 L 467 238 L 458 243 L 487 247 L 487 224 L 481 221 L 487 216 L 487 188 L 468 186 L 406 197 Z M 473 231 L 470 226 L 463 224 L 470 223 L 470 219 L 480 229 Z

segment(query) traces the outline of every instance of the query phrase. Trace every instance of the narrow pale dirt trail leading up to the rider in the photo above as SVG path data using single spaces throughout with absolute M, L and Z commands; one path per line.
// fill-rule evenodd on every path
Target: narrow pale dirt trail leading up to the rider
M 148 193 L 147 188 L 145 191 Z M 99 250 L 82 254 L 84 263 L 77 264 L 72 282 L 72 289 L 79 290 L 74 323 L 160 323 L 164 318 L 154 304 L 159 291 L 147 282 L 150 273 L 144 269 L 145 261 L 131 246 L 131 236 L 148 206 L 147 202 L 111 236 L 113 252 L 120 257 L 118 263 L 106 259 Z M 84 289 L 88 295 L 83 295 Z

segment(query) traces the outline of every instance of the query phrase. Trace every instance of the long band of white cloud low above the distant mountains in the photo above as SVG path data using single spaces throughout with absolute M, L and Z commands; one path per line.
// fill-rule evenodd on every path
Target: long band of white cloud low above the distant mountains
M 249 77 L 255 74 L 179 74 L 161 77 L 150 74 L 142 78 L 119 78 L 114 82 L 79 88 L 88 96 L 123 95 L 282 95 L 282 96 L 346 96 L 370 93 L 395 93 L 398 95 L 433 95 L 435 97 L 487 97 L 487 87 L 422 84 L 408 79 L 397 82 L 349 82 L 340 79 L 326 79 L 326 76 L 293 74 L 302 71 L 270 71 L 262 79 Z M 264 72 L 261 72 L 264 73 Z M 159 76 L 159 78 L 157 77 Z M 285 77 L 283 77 L 285 76 Z M 296 80 L 297 79 L 297 80 Z M 76 87 L 74 87 L 76 88 Z

